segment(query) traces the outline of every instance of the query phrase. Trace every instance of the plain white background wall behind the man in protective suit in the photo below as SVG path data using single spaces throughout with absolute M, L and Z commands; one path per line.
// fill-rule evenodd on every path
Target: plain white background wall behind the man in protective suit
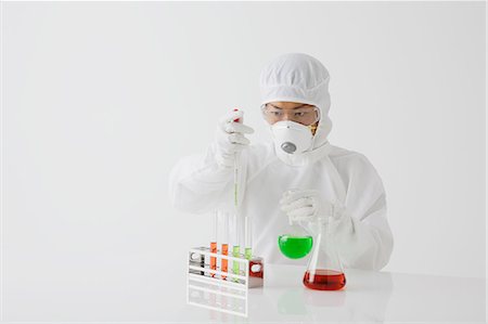
M 183 271 L 209 216 L 172 209 L 170 168 L 234 106 L 268 137 L 285 52 L 328 67 L 330 140 L 383 178 L 385 270 L 485 277 L 485 36 L 484 2 L 3 3 L 4 296 Z

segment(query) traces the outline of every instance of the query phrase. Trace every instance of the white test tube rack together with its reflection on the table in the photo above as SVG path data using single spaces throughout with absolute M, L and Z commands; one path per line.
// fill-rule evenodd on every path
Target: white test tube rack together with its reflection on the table
M 211 269 L 210 258 L 216 258 Z M 221 271 L 222 260 L 239 262 L 240 273 Z M 246 259 L 244 255 L 233 257 L 211 252 L 208 247 L 189 250 L 187 272 L 187 302 L 192 306 L 247 317 L 248 289 L 264 285 L 264 263 L 261 258 Z

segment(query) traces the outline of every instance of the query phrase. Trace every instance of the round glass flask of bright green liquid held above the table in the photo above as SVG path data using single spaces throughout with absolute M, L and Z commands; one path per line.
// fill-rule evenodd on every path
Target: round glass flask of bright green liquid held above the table
M 291 231 L 278 237 L 278 246 L 285 257 L 300 259 L 310 252 L 313 238 L 300 225 L 291 223 Z

